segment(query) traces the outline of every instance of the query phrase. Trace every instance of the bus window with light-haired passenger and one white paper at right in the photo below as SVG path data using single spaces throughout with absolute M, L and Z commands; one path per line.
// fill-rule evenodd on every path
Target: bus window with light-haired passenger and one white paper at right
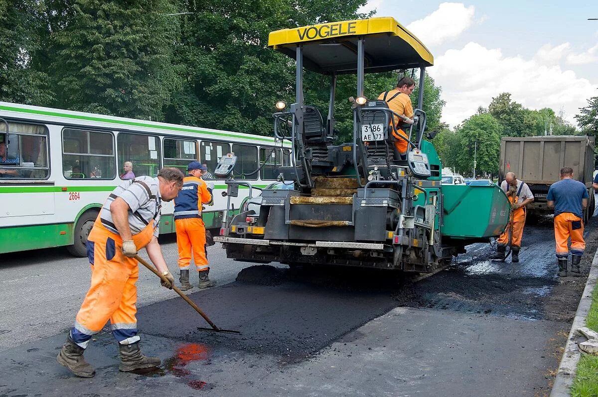
M 124 174 L 124 163 L 133 163 L 133 174 L 136 177 L 157 177 L 160 171 L 160 139 L 142 134 L 119 133 L 118 167 Z

